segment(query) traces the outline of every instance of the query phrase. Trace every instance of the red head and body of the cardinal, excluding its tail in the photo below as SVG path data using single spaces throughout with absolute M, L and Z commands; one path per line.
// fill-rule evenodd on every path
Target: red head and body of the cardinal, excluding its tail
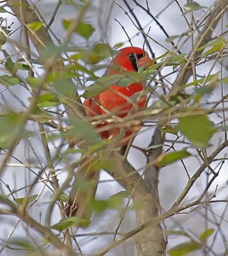
M 126 47 L 120 50 L 105 72 L 105 76 L 120 74 L 125 71 L 137 72 L 142 65 L 152 65 L 152 61 L 148 53 L 138 47 Z M 132 106 L 130 97 L 135 93 L 141 92 L 145 88 L 145 84 L 132 83 L 129 86 L 117 86 L 112 84 L 108 90 L 95 96 L 94 99 L 89 98 L 84 102 L 87 116 L 97 116 L 110 113 L 118 117 L 125 117 L 130 109 L 134 112 L 143 109 L 146 105 L 146 96 L 141 96 L 140 99 L 135 99 L 135 104 Z M 100 107 L 102 106 L 102 108 Z M 135 109 L 137 106 L 137 109 Z M 96 125 L 96 128 L 103 127 L 106 124 Z M 127 145 L 130 141 L 133 130 L 125 131 L 125 136 L 119 145 Z M 112 128 L 108 131 L 100 132 L 102 139 L 109 139 L 119 134 L 119 128 Z

